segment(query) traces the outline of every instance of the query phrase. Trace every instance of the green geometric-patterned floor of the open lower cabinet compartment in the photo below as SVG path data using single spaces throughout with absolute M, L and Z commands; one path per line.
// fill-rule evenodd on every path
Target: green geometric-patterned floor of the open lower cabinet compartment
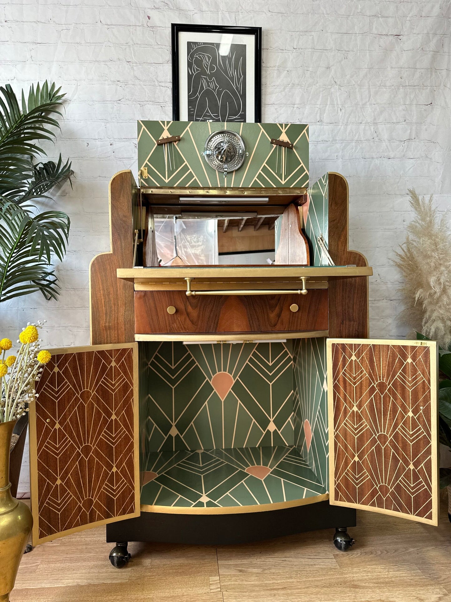
M 325 492 L 295 447 L 160 452 L 150 455 L 141 504 L 257 506 Z

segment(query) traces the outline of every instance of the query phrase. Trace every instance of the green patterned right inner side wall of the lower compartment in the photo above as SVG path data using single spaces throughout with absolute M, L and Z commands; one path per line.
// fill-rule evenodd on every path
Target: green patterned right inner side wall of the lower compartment
M 293 371 L 295 445 L 328 488 L 326 339 L 296 339 Z

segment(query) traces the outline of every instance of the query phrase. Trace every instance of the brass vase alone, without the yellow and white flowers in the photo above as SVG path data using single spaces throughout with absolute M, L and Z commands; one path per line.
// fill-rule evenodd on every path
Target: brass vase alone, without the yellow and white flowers
M 11 495 L 10 447 L 17 420 L 0 423 L 0 601 L 10 599 L 33 526 L 30 509 Z

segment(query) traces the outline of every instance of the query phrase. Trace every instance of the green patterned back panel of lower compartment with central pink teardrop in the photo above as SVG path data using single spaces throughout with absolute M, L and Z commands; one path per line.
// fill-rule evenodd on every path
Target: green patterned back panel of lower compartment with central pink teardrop
M 146 458 L 164 450 L 293 445 L 291 348 L 140 343 Z

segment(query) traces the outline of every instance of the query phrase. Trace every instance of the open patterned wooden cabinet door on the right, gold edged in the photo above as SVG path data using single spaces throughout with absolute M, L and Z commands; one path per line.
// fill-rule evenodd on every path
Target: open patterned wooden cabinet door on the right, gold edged
M 437 525 L 437 344 L 327 341 L 330 503 Z

